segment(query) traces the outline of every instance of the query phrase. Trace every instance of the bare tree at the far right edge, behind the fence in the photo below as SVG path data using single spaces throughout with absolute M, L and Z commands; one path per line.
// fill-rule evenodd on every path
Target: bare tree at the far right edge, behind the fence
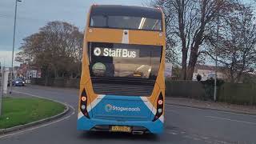
M 253 9 L 240 6 L 222 21 L 220 39 L 210 39 L 213 49 L 218 50 L 218 62 L 226 67 L 231 82 L 239 82 L 242 75 L 252 72 L 256 63 L 256 25 Z M 218 45 L 217 45 L 218 44 Z M 212 58 L 212 51 L 208 54 Z M 216 60 L 214 58 L 214 60 Z

